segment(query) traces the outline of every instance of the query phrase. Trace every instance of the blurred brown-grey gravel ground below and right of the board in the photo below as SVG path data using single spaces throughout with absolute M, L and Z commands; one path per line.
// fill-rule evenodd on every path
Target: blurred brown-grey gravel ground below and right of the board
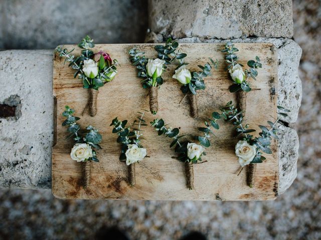
M 298 175 L 275 201 L 192 202 L 58 200 L 50 190 L 0 189 L 0 238 L 87 239 L 117 225 L 131 239 L 321 238 L 321 2 L 293 2 L 294 39 L 303 49 L 303 98 L 297 130 Z

